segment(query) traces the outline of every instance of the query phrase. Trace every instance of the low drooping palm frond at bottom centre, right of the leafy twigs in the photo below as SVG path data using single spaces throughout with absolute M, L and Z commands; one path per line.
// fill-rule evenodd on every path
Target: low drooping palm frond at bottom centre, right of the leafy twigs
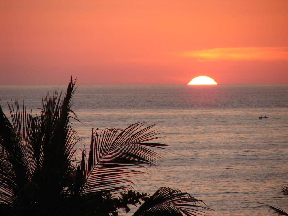
M 205 210 L 212 209 L 187 192 L 161 187 L 137 209 L 133 216 L 207 215 Z

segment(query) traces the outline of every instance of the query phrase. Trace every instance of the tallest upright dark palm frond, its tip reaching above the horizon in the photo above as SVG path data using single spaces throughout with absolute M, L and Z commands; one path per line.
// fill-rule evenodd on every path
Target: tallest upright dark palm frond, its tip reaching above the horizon
M 50 188 L 43 188 L 43 193 L 48 193 L 49 196 L 53 196 L 53 193 L 63 193 L 66 196 L 67 187 L 72 184 L 71 172 L 73 173 L 75 168 L 71 164 L 71 158 L 76 151 L 74 145 L 78 141 L 76 132 L 69 125 L 71 115 L 77 120 L 71 110 L 74 86 L 75 81 L 73 82 L 71 77 L 63 97 L 62 92 L 59 94 L 55 89 L 42 100 L 38 141 L 43 154 L 38 156 L 42 169 L 37 176 L 44 185 L 49 185 Z M 43 179 L 43 176 L 48 176 L 49 179 Z

